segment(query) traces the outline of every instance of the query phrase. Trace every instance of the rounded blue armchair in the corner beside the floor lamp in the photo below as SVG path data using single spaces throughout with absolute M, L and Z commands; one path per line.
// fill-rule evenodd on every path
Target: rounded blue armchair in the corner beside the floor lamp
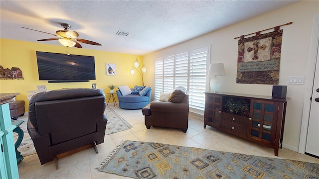
M 150 89 L 145 96 L 140 94 L 129 94 L 123 96 L 122 93 L 116 91 L 119 99 L 119 106 L 123 109 L 142 109 L 151 102 L 152 89 Z

